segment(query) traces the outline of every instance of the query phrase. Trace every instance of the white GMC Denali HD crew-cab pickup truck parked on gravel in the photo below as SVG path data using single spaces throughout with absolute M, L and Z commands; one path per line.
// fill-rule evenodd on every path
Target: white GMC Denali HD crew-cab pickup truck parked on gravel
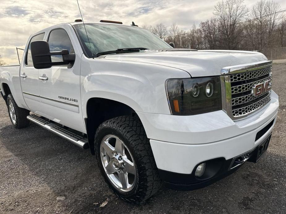
M 30 36 L 21 65 L 0 72 L 12 124 L 32 121 L 90 149 L 131 203 L 162 182 L 196 189 L 257 162 L 279 107 L 263 54 L 176 49 L 134 23 L 46 28 Z

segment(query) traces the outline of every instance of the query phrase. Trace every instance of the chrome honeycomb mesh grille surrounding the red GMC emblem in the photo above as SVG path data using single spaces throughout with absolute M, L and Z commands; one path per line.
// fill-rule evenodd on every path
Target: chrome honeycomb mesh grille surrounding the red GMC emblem
M 222 106 L 233 120 L 255 112 L 270 101 L 271 88 L 258 96 L 253 88 L 267 80 L 272 84 L 271 61 L 225 67 L 221 73 L 224 75 L 221 76 Z

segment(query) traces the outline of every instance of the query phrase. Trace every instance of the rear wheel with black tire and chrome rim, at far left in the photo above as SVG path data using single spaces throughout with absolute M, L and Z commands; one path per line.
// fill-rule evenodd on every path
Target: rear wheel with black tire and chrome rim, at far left
M 30 111 L 27 109 L 20 108 L 12 94 L 7 96 L 7 108 L 10 120 L 17 129 L 22 129 L 29 126 L 30 121 L 27 119 L 27 116 L 30 114 Z

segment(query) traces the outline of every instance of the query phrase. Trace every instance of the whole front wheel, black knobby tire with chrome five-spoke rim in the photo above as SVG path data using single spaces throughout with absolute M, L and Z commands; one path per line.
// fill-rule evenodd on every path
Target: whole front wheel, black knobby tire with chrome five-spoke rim
M 96 130 L 95 154 L 106 183 L 123 200 L 139 204 L 161 186 L 149 139 L 136 117 L 115 117 Z

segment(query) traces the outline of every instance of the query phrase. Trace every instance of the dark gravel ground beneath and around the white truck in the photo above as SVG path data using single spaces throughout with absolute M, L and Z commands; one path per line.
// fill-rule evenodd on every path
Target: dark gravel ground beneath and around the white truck
M 286 64 L 274 64 L 273 76 L 280 109 L 258 163 L 200 190 L 163 186 L 140 206 L 117 199 L 88 150 L 34 124 L 13 128 L 1 99 L 0 213 L 286 213 Z

